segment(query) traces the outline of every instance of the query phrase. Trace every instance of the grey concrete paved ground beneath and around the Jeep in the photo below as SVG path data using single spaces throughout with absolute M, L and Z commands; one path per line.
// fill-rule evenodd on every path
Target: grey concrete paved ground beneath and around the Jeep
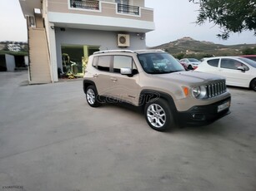
M 24 86 L 0 72 L 2 191 L 255 191 L 256 92 L 232 113 L 160 133 L 138 111 L 88 106 L 82 81 Z

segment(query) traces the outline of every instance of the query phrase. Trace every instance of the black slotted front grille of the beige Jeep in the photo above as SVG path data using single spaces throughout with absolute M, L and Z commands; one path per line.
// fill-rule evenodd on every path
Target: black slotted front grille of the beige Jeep
M 219 96 L 227 91 L 226 81 L 216 81 L 206 86 L 208 98 Z

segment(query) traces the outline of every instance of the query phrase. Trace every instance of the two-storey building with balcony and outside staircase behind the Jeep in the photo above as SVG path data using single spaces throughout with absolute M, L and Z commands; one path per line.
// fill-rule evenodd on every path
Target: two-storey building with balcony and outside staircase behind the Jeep
M 154 30 L 144 0 L 19 0 L 28 23 L 29 82 L 83 75 L 88 56 L 109 49 L 145 49 Z

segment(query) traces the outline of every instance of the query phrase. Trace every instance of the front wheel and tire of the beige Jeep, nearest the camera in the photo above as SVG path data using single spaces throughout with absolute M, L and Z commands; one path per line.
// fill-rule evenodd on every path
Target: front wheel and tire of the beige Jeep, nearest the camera
M 166 100 L 149 100 L 144 109 L 145 119 L 153 130 L 165 131 L 174 125 L 171 109 Z

